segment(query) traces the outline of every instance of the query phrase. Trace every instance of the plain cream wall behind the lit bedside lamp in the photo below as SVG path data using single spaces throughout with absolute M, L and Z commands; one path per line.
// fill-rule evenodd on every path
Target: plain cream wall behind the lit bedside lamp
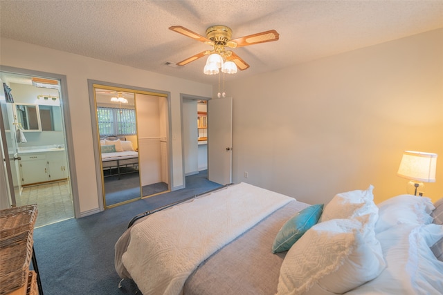
M 226 93 L 234 182 L 311 204 L 374 184 L 380 202 L 406 193 L 397 169 L 413 150 L 439 154 L 425 195 L 443 197 L 443 29 L 235 80 Z

